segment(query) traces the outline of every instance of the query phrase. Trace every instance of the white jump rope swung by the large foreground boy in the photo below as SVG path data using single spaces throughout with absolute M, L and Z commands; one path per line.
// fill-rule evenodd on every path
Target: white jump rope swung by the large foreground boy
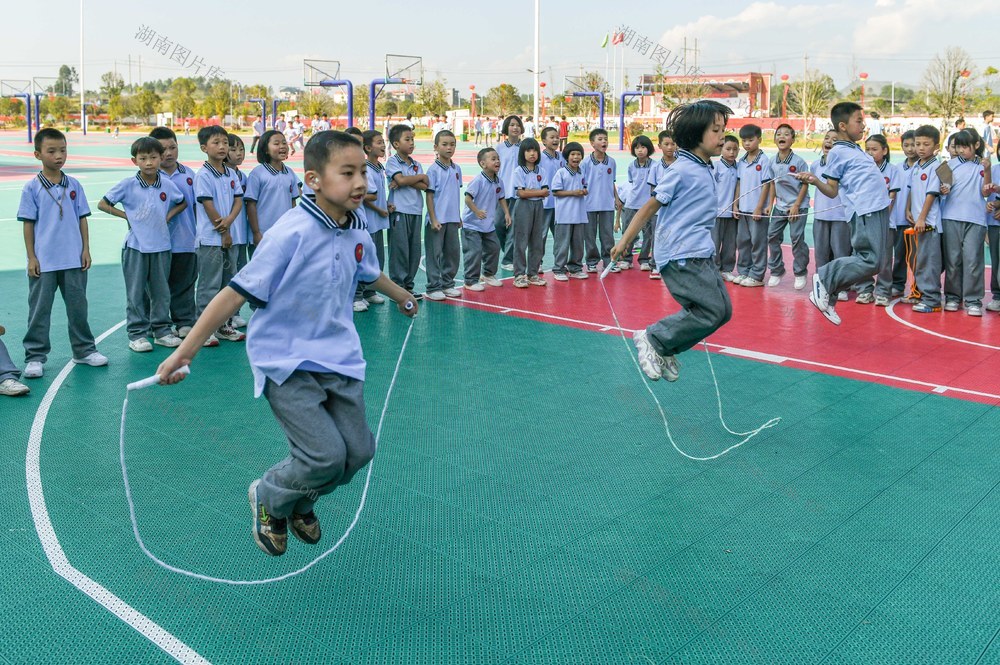
M 406 309 L 412 310 L 413 303 L 408 302 Z M 406 330 L 406 337 L 403 339 L 403 346 L 399 350 L 399 358 L 396 360 L 396 368 L 392 372 L 392 380 L 389 382 L 389 389 L 388 391 L 386 391 L 385 394 L 385 404 L 382 405 L 382 414 L 379 416 L 378 427 L 375 430 L 376 450 L 378 450 L 378 444 L 382 438 L 382 424 L 385 422 L 385 414 L 389 410 L 389 400 L 392 397 L 393 388 L 395 388 L 396 386 L 396 378 L 399 376 L 399 367 L 400 365 L 403 364 L 403 354 L 406 353 L 406 347 L 410 343 L 410 334 L 412 332 L 413 332 L 413 320 L 410 321 L 410 326 Z M 190 368 L 181 367 L 179 370 L 175 371 L 171 376 L 190 374 L 190 373 L 191 373 Z M 344 535 L 342 535 L 337 540 L 337 542 L 335 542 L 328 550 L 326 550 L 325 552 L 323 552 L 318 557 L 316 557 L 306 565 L 302 566 L 298 570 L 293 570 L 289 573 L 285 573 L 284 575 L 279 575 L 277 577 L 269 577 L 267 579 L 261 579 L 261 580 L 229 580 L 221 577 L 211 577 L 209 575 L 202 575 L 201 573 L 196 573 L 190 570 L 185 570 L 183 568 L 178 568 L 176 566 L 171 566 L 169 563 L 166 563 L 165 561 L 157 557 L 155 554 L 150 552 L 149 548 L 146 547 L 146 543 L 142 540 L 142 535 L 139 533 L 139 523 L 136 520 L 135 516 L 135 502 L 132 499 L 132 486 L 129 484 L 128 481 L 128 465 L 125 463 L 125 414 L 128 412 L 128 394 L 130 392 L 136 390 L 142 390 L 143 388 L 149 388 L 151 386 L 157 386 L 159 384 L 160 384 L 159 376 L 151 376 L 148 379 L 143 379 L 141 381 L 136 381 L 134 383 L 128 384 L 128 387 L 125 392 L 125 401 L 122 403 L 122 425 L 118 443 L 118 455 L 119 459 L 121 460 L 121 466 L 122 466 L 122 480 L 125 481 L 125 498 L 128 500 L 128 513 L 129 513 L 129 518 L 132 520 L 132 534 L 135 536 L 135 542 L 138 543 L 139 549 L 141 549 L 143 553 L 150 558 L 150 560 L 152 560 L 156 565 L 160 566 L 161 568 L 168 570 L 172 573 L 177 573 L 178 575 L 185 575 L 187 577 L 193 577 L 197 580 L 202 580 L 204 582 L 215 582 L 217 584 L 230 584 L 234 586 L 252 586 L 260 584 L 272 584 L 274 582 L 282 582 L 289 578 L 295 577 L 296 575 L 300 575 L 309 570 L 310 568 L 312 568 L 313 566 L 315 566 L 317 563 L 319 563 L 326 557 L 333 554 L 338 547 L 344 544 L 344 541 L 347 540 L 347 537 L 349 535 L 351 535 L 351 531 L 354 530 L 355 525 L 357 525 L 358 520 L 361 518 L 361 511 L 364 510 L 365 501 L 367 501 L 368 499 L 368 486 L 372 479 L 372 469 L 375 467 L 374 460 L 368 463 L 368 473 L 365 475 L 365 487 L 361 491 L 361 500 L 360 502 L 358 502 L 358 509 L 354 513 L 354 519 L 352 519 L 351 523 L 347 526 L 347 530 L 344 531 Z

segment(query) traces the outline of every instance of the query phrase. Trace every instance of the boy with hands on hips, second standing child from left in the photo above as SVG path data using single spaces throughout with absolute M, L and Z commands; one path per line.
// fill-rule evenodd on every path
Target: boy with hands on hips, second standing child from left
M 128 301 L 128 348 L 153 350 L 154 343 L 176 348 L 181 338 L 170 327 L 170 220 L 187 202 L 169 179 L 161 177 L 163 146 L 148 136 L 132 143 L 138 173 L 112 187 L 97 204 L 101 212 L 124 219 L 128 233 L 122 245 L 122 272 Z M 122 204 L 124 212 L 117 206 Z

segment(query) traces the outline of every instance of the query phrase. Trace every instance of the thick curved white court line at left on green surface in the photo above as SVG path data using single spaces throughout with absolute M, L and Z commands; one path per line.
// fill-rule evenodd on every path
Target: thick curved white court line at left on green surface
M 103 341 L 124 325 L 125 322 L 120 321 L 114 327 L 104 331 L 97 338 L 97 342 Z M 66 363 L 66 366 L 56 376 L 55 381 L 45 391 L 42 403 L 38 406 L 38 410 L 35 412 L 35 419 L 31 423 L 31 434 L 28 436 L 28 452 L 25 456 L 25 475 L 28 485 L 28 502 L 31 504 L 31 519 L 35 522 L 35 530 L 38 532 L 38 539 L 42 542 L 45 556 L 48 557 L 49 563 L 52 565 L 52 570 L 57 575 L 90 596 L 106 610 L 138 631 L 143 637 L 163 649 L 163 651 L 177 662 L 185 664 L 208 663 L 209 661 L 167 632 L 159 624 L 75 568 L 69 562 L 66 553 L 59 544 L 59 539 L 56 537 L 55 529 L 52 526 L 52 520 L 49 518 L 49 510 L 45 505 L 40 458 L 42 434 L 45 431 L 45 419 L 49 415 L 49 408 L 52 406 L 59 388 L 62 387 L 69 373 L 73 371 L 73 367 L 75 367 L 75 364 L 72 361 Z

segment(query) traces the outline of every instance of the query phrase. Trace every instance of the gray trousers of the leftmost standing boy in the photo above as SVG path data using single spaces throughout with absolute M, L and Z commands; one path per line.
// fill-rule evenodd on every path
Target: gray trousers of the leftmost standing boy
M 66 304 L 69 320 L 69 342 L 73 357 L 82 359 L 97 351 L 94 333 L 87 322 L 87 273 L 80 268 L 43 272 L 40 277 L 28 277 L 28 330 L 24 333 L 24 362 L 45 363 L 52 345 L 49 325 L 56 289 Z

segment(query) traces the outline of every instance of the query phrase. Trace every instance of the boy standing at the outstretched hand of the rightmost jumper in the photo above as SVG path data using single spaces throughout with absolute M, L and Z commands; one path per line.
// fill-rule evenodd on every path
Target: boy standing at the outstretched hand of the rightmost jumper
M 795 154 L 795 129 L 788 123 L 781 123 L 774 130 L 774 143 L 778 154 L 771 163 L 774 184 L 771 186 L 771 213 L 767 225 L 767 245 L 770 259 L 768 269 L 771 276 L 767 280 L 770 287 L 778 286 L 785 274 L 785 257 L 781 241 L 785 238 L 785 227 L 789 227 L 792 241 L 792 274 L 795 288 L 803 289 L 809 274 L 809 245 L 806 244 L 806 217 L 809 216 L 809 185 L 785 177 L 796 173 L 806 173 L 809 165 Z

